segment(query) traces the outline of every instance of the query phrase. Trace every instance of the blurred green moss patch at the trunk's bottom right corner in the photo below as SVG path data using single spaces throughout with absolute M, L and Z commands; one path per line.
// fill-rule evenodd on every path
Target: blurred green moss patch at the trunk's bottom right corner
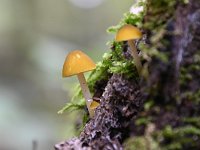
M 144 135 L 129 138 L 124 144 L 124 149 L 181 150 L 186 145 L 190 145 L 190 147 L 195 148 L 198 143 L 194 138 L 192 138 L 194 136 L 200 137 L 200 129 L 192 125 L 175 129 L 173 129 L 171 126 L 166 126 L 161 131 L 153 132 L 152 136 Z

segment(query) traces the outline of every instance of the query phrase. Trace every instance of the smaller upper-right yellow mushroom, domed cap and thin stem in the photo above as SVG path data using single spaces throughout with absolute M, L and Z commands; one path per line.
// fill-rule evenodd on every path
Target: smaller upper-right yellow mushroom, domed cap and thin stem
M 136 28 L 133 25 L 127 24 L 119 29 L 115 38 L 117 42 L 128 41 L 128 45 L 131 48 L 131 53 L 134 58 L 135 66 L 140 75 L 142 71 L 142 64 L 141 64 L 140 57 L 138 56 L 134 40 L 140 39 L 141 37 L 142 37 L 142 33 L 140 32 L 138 28 Z

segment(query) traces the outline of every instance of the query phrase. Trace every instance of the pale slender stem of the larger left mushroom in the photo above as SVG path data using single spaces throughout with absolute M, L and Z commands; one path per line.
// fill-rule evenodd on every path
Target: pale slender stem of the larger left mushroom
M 94 112 L 90 109 L 90 105 L 93 100 L 92 100 L 92 96 L 90 94 L 89 88 L 87 86 L 85 76 L 83 73 L 79 73 L 77 74 L 77 76 L 78 76 L 78 80 L 82 89 L 83 96 L 85 97 L 85 100 L 86 100 L 87 109 L 89 111 L 90 117 L 92 117 Z

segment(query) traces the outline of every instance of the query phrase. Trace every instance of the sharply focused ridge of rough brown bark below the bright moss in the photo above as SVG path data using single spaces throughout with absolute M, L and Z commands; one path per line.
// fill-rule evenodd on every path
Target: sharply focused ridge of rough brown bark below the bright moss
M 95 116 L 85 126 L 80 137 L 73 140 L 76 147 L 86 149 L 121 150 L 121 143 L 129 136 L 129 125 L 140 110 L 142 95 L 137 81 L 114 74 L 101 97 Z M 72 141 L 56 145 L 56 149 L 75 148 Z M 80 148 L 79 147 L 79 148 Z

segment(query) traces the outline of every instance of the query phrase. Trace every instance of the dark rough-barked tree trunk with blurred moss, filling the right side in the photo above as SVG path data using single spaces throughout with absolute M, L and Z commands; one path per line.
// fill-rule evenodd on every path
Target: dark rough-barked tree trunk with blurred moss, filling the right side
M 125 74 L 98 81 L 94 118 L 56 150 L 200 149 L 200 1 L 148 0 L 143 30 L 147 81 Z

